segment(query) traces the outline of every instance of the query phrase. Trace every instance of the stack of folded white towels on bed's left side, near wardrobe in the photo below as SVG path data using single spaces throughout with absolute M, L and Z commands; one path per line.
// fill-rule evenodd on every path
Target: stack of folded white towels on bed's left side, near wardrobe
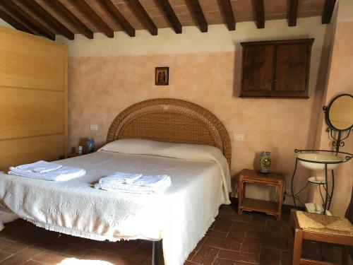
M 54 182 L 66 181 L 85 175 L 85 170 L 77 167 L 66 167 L 56 163 L 49 163 L 43 160 L 32 164 L 10 167 L 8 174 L 33 179 L 43 179 Z

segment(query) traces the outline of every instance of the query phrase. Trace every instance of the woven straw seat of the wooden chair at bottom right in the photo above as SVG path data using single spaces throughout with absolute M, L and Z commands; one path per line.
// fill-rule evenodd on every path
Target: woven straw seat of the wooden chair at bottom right
M 303 211 L 297 211 L 297 218 L 299 227 L 303 230 L 353 237 L 353 225 L 347 218 Z

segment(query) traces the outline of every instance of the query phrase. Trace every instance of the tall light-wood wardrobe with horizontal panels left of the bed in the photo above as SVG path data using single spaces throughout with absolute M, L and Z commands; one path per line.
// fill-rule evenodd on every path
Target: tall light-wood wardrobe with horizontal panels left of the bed
M 66 149 L 66 45 L 0 27 L 0 170 Z

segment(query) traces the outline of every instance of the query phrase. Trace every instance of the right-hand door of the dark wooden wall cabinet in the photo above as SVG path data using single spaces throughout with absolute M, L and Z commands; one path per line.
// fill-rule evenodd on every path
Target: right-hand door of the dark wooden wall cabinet
M 275 90 L 306 96 L 309 45 L 278 45 L 276 55 Z

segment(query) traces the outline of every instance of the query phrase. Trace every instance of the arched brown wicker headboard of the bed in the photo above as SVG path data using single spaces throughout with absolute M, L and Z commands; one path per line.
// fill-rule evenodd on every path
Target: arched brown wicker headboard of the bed
M 191 102 L 158 98 L 127 107 L 110 125 L 107 142 L 126 138 L 216 146 L 230 168 L 232 148 L 225 126 L 214 114 Z

